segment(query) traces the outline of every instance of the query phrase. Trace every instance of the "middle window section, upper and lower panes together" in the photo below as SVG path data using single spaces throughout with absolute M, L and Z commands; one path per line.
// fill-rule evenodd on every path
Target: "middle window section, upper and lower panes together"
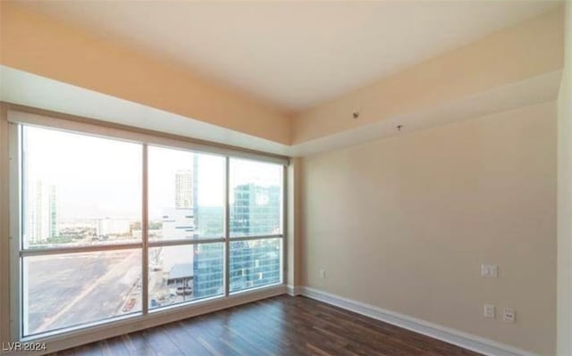
M 148 162 L 149 309 L 223 295 L 226 158 L 149 146 Z

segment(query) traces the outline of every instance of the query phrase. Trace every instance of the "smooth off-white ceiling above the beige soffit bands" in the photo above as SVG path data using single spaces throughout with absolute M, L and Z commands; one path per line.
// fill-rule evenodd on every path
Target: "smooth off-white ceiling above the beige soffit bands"
M 22 1 L 300 111 L 558 2 Z

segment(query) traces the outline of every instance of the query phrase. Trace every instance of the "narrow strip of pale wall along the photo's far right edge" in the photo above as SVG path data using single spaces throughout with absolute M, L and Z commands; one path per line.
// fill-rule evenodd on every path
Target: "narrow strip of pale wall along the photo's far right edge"
M 572 2 L 566 6 L 566 67 L 558 122 L 558 354 L 572 355 Z

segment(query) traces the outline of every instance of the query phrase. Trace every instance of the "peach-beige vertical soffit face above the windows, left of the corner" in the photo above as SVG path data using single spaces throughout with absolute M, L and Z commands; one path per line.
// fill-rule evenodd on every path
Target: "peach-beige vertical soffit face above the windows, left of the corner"
M 1 2 L 0 63 L 282 144 L 290 118 L 257 98 L 81 29 Z

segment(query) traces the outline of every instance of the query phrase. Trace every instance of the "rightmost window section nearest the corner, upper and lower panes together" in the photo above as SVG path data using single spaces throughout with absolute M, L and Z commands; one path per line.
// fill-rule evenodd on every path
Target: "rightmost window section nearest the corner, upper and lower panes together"
M 279 283 L 282 167 L 231 159 L 231 292 Z

